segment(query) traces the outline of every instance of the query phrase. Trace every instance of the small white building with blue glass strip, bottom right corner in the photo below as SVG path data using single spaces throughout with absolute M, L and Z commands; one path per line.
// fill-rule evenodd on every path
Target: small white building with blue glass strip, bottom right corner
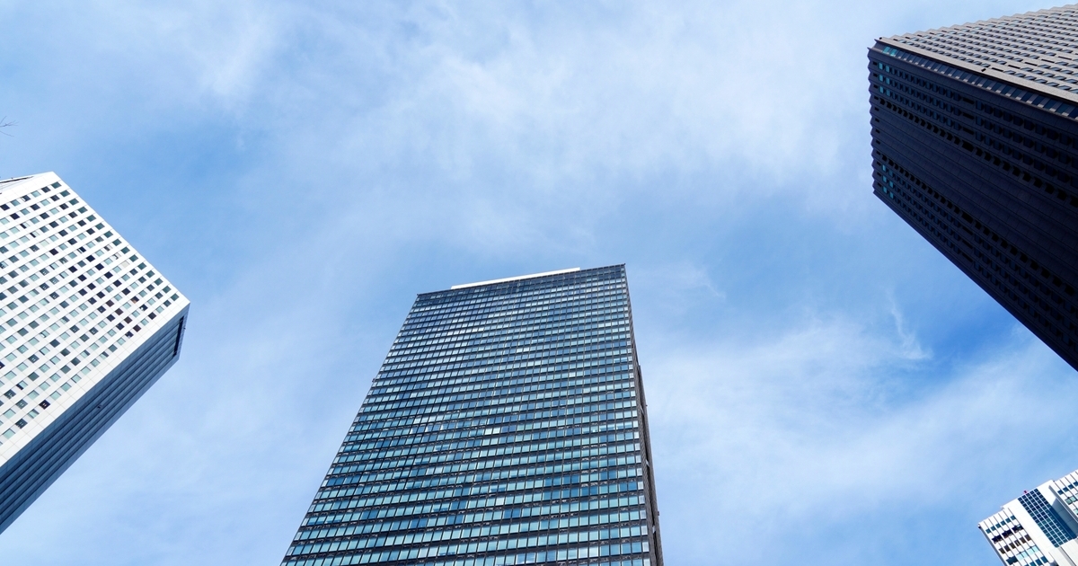
M 981 521 L 978 528 L 1006 565 L 1078 564 L 1078 471 L 1045 482 Z

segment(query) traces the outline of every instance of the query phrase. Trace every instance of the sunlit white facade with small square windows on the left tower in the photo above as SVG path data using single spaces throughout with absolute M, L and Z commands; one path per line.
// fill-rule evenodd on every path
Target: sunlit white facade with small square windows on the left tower
M 0 465 L 186 306 L 71 188 L 42 177 L 0 183 Z

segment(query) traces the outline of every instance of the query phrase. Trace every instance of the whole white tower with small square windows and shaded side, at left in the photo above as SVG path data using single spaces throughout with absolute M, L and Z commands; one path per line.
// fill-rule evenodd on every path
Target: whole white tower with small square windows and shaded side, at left
M 0 181 L 0 530 L 176 362 L 186 313 L 55 174 Z

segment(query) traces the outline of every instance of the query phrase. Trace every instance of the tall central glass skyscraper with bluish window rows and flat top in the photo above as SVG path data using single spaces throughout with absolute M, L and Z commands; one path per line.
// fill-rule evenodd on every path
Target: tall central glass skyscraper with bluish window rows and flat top
M 624 265 L 415 300 L 282 562 L 661 566 Z

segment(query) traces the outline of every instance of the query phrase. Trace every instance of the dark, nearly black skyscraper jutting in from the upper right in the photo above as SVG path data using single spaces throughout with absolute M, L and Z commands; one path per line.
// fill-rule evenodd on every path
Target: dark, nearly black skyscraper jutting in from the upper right
M 875 195 L 1078 369 L 1078 6 L 881 38 L 869 69 Z

